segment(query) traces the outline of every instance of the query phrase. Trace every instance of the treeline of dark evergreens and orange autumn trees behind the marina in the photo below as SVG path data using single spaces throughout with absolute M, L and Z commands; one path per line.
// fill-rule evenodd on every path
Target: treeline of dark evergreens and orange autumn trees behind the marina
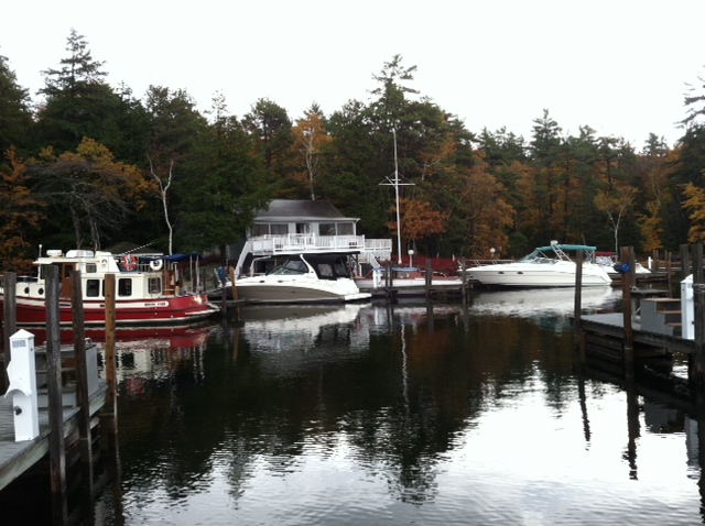
M 36 246 L 118 241 L 207 251 L 237 242 L 271 198 L 327 199 L 368 238 L 394 238 L 399 175 L 402 253 L 522 255 L 550 240 L 599 250 L 675 250 L 705 238 L 703 98 L 686 97 L 674 149 L 650 134 L 637 152 L 589 127 L 565 136 L 547 110 L 528 140 L 468 131 L 413 89 L 397 55 L 368 101 L 292 120 L 268 99 L 241 118 L 216 94 L 199 112 L 184 89 L 111 87 L 72 31 L 67 56 L 42 72 L 37 100 L 0 56 L 0 269 L 23 270 Z

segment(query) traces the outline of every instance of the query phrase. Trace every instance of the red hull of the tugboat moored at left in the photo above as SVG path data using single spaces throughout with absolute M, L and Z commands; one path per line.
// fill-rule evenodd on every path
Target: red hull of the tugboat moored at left
M 3 298 L 0 299 L 3 303 Z M 184 295 L 154 299 L 117 300 L 115 308 L 116 325 L 161 325 L 184 324 L 205 319 L 216 313 L 205 294 Z M 72 303 L 58 300 L 59 325 L 73 324 Z M 46 303 L 44 298 L 17 298 L 17 325 L 36 326 L 46 324 Z M 105 300 L 84 300 L 84 324 L 105 326 Z

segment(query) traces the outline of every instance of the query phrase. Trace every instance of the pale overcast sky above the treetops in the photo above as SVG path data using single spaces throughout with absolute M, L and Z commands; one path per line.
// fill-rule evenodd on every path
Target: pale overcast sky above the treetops
M 704 0 L 8 0 L 0 55 L 33 98 L 68 56 L 72 29 L 112 86 L 221 91 L 242 117 L 260 98 L 292 120 L 369 100 L 395 54 L 411 87 L 468 130 L 531 138 L 547 109 L 564 135 L 589 125 L 640 151 L 683 134 L 686 84 L 705 77 Z

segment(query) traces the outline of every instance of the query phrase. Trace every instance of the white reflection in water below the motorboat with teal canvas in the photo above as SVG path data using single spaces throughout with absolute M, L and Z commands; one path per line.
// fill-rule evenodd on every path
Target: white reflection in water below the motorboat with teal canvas
M 590 287 L 581 292 L 583 311 L 609 308 L 620 298 L 621 294 L 611 287 Z M 571 316 L 575 309 L 575 287 L 482 291 L 473 296 L 470 309 L 522 318 Z

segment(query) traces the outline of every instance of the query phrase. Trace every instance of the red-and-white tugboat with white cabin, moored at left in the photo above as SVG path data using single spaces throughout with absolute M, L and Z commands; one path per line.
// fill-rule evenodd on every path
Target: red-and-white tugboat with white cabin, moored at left
M 73 322 L 72 291 L 76 272 L 80 272 L 80 288 L 86 326 L 106 325 L 106 275 L 116 282 L 116 324 L 176 325 L 199 320 L 218 311 L 205 294 L 181 287 L 180 264 L 191 263 L 198 254 L 166 256 L 113 255 L 93 250 L 48 250 L 34 262 L 34 276 L 19 276 L 14 291 L 0 288 L 0 304 L 6 293 L 15 296 L 18 325 L 46 324 L 46 281 L 43 266 L 58 267 L 59 324 Z M 196 271 L 193 275 L 198 275 Z

